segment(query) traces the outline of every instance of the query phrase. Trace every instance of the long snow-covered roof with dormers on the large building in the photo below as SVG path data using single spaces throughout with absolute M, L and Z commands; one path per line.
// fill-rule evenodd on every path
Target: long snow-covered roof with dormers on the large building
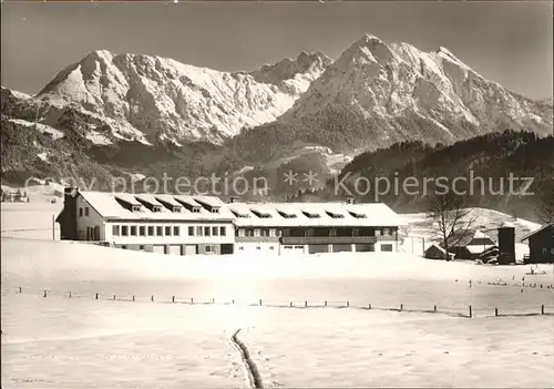
M 397 227 L 406 222 L 389 206 L 381 203 L 224 203 L 212 196 L 124 194 L 107 192 L 79 192 L 103 218 L 115 219 L 225 219 L 245 227 L 286 226 L 367 226 Z M 132 211 L 129 204 L 160 205 L 160 212 L 141 206 Z M 182 206 L 173 212 L 164 205 Z M 183 206 L 186 204 L 187 206 Z M 196 207 L 199 212 L 193 212 Z M 216 213 L 213 208 L 218 208 Z M 195 209 L 196 211 L 196 209 Z

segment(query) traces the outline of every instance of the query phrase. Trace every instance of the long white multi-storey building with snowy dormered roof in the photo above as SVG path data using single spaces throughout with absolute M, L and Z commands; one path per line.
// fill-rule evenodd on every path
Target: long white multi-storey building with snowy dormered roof
M 65 188 L 61 238 L 174 255 L 393 252 L 384 204 L 224 203 L 212 196 Z

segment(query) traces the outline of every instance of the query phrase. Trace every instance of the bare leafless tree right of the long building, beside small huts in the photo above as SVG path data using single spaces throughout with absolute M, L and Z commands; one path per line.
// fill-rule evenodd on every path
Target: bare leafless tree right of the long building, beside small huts
M 428 217 L 439 227 L 447 260 L 449 248 L 458 245 L 473 227 L 479 213 L 466 206 L 466 197 L 448 192 L 429 197 Z

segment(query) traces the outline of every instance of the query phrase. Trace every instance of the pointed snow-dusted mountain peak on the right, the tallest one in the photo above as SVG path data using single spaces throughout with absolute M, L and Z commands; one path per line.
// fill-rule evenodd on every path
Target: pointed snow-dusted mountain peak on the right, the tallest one
M 489 81 L 448 49 L 365 34 L 279 120 L 324 143 L 454 142 L 506 129 L 552 133 L 552 106 Z

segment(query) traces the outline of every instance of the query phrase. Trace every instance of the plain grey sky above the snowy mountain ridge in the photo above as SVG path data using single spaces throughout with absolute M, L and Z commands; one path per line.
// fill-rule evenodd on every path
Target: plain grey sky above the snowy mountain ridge
M 1 83 L 38 93 L 94 50 L 249 71 L 301 51 L 336 59 L 368 32 L 423 51 L 445 47 L 486 79 L 552 96 L 550 1 L 209 1 L 1 4 Z

